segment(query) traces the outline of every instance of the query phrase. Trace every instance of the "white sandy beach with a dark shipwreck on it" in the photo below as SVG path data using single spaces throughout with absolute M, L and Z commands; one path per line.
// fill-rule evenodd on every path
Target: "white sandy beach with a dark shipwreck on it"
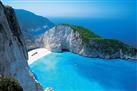
M 36 60 L 40 59 L 41 57 L 50 54 L 51 52 L 48 51 L 45 48 L 38 48 L 38 49 L 34 49 L 32 51 L 28 52 L 28 56 L 29 56 L 29 60 L 28 60 L 28 64 L 32 64 L 33 62 L 35 62 Z

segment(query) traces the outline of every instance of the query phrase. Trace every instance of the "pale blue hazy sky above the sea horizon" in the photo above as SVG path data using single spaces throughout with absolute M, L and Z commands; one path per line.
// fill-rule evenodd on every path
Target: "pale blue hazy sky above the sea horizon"
M 2 0 L 15 9 L 46 17 L 128 18 L 136 16 L 136 0 Z

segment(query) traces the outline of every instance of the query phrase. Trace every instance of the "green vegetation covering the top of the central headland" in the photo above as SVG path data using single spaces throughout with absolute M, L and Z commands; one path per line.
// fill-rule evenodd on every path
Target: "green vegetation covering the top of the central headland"
M 80 37 L 82 38 L 84 44 L 86 44 L 87 47 L 96 48 L 97 50 L 102 50 L 108 53 L 118 52 L 119 50 L 122 50 L 122 52 L 124 53 L 137 52 L 136 48 L 124 44 L 119 40 L 101 38 L 100 36 L 96 35 L 94 32 L 91 32 L 90 30 L 83 28 L 81 26 L 74 26 L 69 24 L 63 24 L 63 25 L 71 27 L 74 31 L 78 31 Z

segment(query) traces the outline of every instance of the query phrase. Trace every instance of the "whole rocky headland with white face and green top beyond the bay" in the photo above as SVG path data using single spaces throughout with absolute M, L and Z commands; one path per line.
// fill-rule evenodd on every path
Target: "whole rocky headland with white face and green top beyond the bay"
M 57 25 L 44 34 L 44 47 L 53 52 L 70 51 L 87 57 L 137 59 L 137 49 L 118 40 L 103 39 L 80 26 Z

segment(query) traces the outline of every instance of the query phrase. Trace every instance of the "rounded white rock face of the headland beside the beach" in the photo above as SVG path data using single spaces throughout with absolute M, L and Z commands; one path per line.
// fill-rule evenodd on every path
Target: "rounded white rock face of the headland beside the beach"
M 44 47 L 53 52 L 71 51 L 82 54 L 84 45 L 77 31 L 64 25 L 58 25 L 44 34 Z

